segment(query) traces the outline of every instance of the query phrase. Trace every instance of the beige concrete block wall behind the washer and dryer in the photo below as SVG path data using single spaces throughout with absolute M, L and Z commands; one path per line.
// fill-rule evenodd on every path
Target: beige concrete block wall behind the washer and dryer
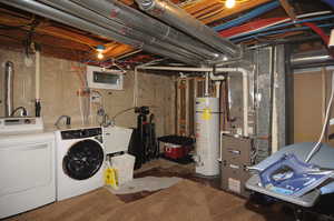
M 0 49 L 0 117 L 4 115 L 6 61 L 14 63 L 14 107 L 24 106 L 29 115 L 35 114 L 35 56 L 31 56 L 31 60 L 32 62 L 29 64 L 21 49 Z M 71 67 L 78 66 L 78 62 L 41 54 L 40 94 L 46 124 L 53 124 L 62 114 L 70 115 L 72 123 L 81 123 L 77 96 L 80 80 L 71 69 Z M 124 80 L 124 90 L 98 90 L 104 97 L 104 106 L 110 117 L 134 106 L 134 71 L 128 71 Z M 138 106 L 151 107 L 150 110 L 156 115 L 157 135 L 174 133 L 175 88 L 170 77 L 138 72 Z M 96 123 L 98 120 L 97 107 L 95 104 L 91 107 L 90 121 Z M 136 127 L 136 117 L 134 110 L 130 110 L 116 118 L 116 124 Z

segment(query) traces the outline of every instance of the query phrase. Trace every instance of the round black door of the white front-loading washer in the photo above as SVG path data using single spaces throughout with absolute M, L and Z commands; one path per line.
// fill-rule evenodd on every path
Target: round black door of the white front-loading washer
M 63 172 L 75 180 L 86 180 L 99 171 L 104 163 L 104 149 L 94 140 L 75 143 L 62 160 Z

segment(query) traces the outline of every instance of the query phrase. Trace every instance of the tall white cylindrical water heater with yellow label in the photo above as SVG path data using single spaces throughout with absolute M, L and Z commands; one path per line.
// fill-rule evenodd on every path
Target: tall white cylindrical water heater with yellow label
M 196 98 L 196 173 L 219 174 L 219 99 Z

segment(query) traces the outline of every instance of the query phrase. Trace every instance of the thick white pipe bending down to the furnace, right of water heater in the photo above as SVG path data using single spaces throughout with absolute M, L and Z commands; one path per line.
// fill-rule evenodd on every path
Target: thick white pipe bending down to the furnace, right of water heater
M 237 72 L 243 76 L 243 113 L 244 113 L 244 137 L 248 137 L 248 71 L 244 68 L 217 68 L 216 72 Z M 216 76 L 210 72 L 210 79 L 213 81 L 224 80 L 225 77 Z

